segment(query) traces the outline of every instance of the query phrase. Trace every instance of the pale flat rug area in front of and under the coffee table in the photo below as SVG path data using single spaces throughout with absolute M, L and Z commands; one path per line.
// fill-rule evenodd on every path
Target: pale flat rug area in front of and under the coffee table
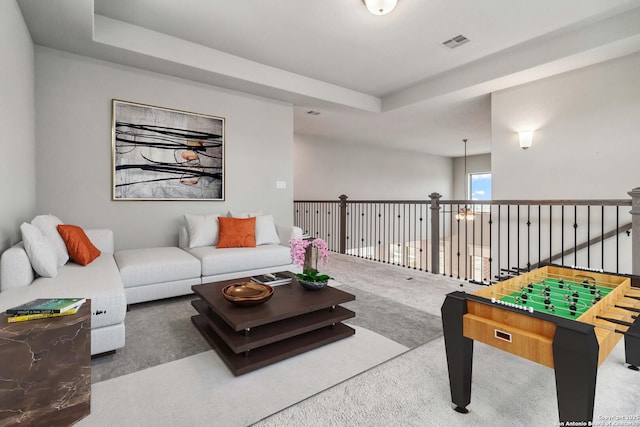
M 352 337 L 234 377 L 213 351 L 94 383 L 77 426 L 246 426 L 407 351 L 354 326 Z

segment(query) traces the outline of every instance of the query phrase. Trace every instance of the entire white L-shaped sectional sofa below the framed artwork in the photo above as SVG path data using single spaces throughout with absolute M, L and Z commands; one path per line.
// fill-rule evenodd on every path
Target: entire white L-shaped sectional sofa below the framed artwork
M 61 223 L 51 215 L 36 218 L 45 218 L 50 226 Z M 199 219 L 203 218 L 211 219 Z M 264 220 L 268 221 L 265 223 Z M 36 264 L 33 263 L 38 260 L 30 259 L 20 242 L 0 257 L 0 312 L 36 298 L 91 299 L 91 354 L 122 348 L 128 304 L 187 295 L 192 293 L 191 286 L 217 280 L 276 271 L 300 272 L 300 267 L 291 263 L 289 240 L 301 237 L 302 230 L 294 226 L 276 226 L 270 215 L 261 216 L 258 222 L 261 224 L 256 225 L 259 244 L 255 247 L 218 248 L 215 241 L 206 239 L 194 243 L 196 236 L 193 233 L 198 230 L 191 227 L 190 236 L 189 224 L 185 222 L 179 230 L 179 247 L 126 249 L 114 253 L 111 230 L 84 230 L 91 243 L 101 251 L 100 256 L 85 266 L 58 259 L 59 267 L 54 277 L 42 277 L 34 271 Z M 206 224 L 211 225 L 211 222 Z M 209 235 L 210 231 L 204 230 L 204 235 Z M 60 239 L 57 232 L 50 233 Z M 51 235 L 47 237 L 51 238 Z M 62 249 L 56 249 L 58 255 L 65 251 L 64 242 L 60 244 Z

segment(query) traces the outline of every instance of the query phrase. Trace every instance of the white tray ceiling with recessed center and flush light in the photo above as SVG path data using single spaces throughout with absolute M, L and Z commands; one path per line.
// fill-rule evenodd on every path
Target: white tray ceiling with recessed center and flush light
M 492 91 L 640 51 L 640 0 L 18 3 L 38 45 L 291 102 L 298 134 L 443 156 L 490 151 Z

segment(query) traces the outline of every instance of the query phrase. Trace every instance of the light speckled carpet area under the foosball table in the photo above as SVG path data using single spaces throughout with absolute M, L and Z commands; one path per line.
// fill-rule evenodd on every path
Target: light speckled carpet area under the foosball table
M 254 427 L 559 425 L 553 369 L 476 342 L 468 414 L 453 410 L 447 375 L 440 337 Z M 598 369 L 593 425 L 640 425 L 640 374 L 626 368 L 623 340 Z

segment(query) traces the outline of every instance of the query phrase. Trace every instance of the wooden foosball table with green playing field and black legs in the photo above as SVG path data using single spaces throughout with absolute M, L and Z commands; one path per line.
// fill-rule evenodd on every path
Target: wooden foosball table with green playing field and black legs
M 634 286 L 635 285 L 635 286 Z M 451 400 L 471 402 L 473 342 L 555 370 L 559 421 L 593 420 L 596 376 L 622 337 L 630 369 L 640 365 L 640 277 L 549 265 L 442 305 Z

